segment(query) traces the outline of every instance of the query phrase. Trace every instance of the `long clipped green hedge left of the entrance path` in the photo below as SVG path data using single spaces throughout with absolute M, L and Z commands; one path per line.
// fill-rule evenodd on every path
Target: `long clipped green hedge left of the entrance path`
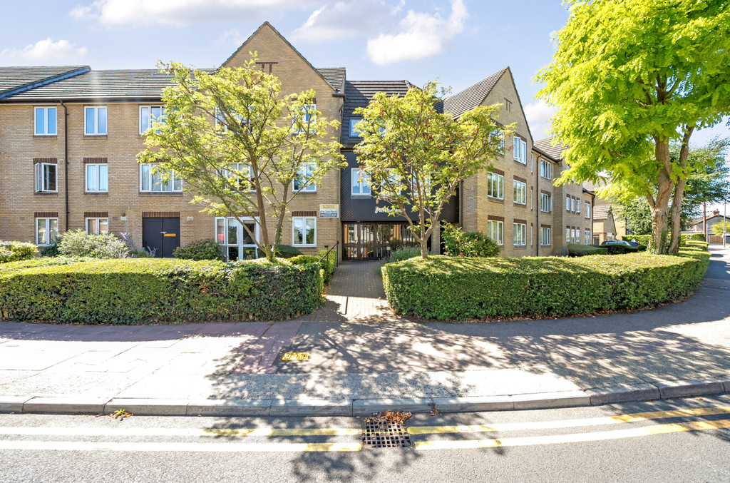
M 281 320 L 322 301 L 320 269 L 312 264 L 58 257 L 0 270 L 0 316 L 13 321 Z

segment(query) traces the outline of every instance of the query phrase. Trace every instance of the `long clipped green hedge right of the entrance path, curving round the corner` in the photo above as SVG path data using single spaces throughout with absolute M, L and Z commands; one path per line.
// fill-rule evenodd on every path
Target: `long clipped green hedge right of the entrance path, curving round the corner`
M 427 319 L 556 316 L 634 309 L 684 297 L 710 254 L 691 242 L 683 256 L 645 253 L 578 258 L 431 256 L 383 266 L 388 302 Z

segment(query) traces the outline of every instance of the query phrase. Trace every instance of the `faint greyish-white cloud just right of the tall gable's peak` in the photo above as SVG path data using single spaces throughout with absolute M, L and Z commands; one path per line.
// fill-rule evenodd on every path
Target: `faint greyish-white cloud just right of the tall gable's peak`
M 304 24 L 297 28 L 292 39 L 323 42 L 373 34 L 383 21 L 398 14 L 405 4 L 391 6 L 383 0 L 337 1 L 316 9 Z

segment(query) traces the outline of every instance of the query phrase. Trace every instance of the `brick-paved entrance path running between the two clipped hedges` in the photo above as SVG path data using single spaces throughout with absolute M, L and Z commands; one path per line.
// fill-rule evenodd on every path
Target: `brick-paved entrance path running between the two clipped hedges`
M 307 322 L 400 321 L 388 305 L 379 271 L 382 262 L 342 262 L 326 293 L 327 303 L 310 315 Z

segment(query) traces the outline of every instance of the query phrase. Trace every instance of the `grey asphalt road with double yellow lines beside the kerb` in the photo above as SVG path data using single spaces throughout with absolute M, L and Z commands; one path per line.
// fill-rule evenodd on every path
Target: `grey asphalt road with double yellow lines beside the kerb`
M 730 395 L 363 419 L 0 415 L 1 482 L 727 482 Z

